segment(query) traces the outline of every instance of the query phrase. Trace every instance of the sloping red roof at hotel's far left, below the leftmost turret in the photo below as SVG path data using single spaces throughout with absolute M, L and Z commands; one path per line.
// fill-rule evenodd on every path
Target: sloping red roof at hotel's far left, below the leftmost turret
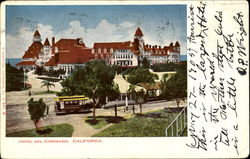
M 31 46 L 25 51 L 23 58 L 38 58 L 39 53 L 41 52 L 43 45 L 41 42 L 33 42 Z

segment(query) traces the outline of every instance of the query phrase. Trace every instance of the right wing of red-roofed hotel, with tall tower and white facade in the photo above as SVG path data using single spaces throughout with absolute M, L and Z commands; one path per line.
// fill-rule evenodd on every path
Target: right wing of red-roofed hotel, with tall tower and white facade
M 145 44 L 143 33 L 138 27 L 134 40 L 125 42 L 94 43 L 91 59 L 105 59 L 110 65 L 135 67 L 147 58 L 151 65 L 159 63 L 180 62 L 180 44 L 170 43 L 169 46 Z

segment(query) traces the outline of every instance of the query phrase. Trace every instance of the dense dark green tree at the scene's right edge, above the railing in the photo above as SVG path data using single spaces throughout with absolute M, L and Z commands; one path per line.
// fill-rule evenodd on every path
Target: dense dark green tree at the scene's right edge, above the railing
M 187 97 L 187 72 L 179 70 L 175 75 L 167 80 L 163 77 L 161 85 L 161 96 L 166 100 L 175 99 L 179 107 L 180 101 Z

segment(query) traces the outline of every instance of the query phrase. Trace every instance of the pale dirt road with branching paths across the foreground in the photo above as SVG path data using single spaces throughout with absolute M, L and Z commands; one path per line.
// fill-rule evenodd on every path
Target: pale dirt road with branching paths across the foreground
M 69 123 L 74 127 L 73 137 L 90 137 L 95 133 L 105 129 L 110 126 L 107 125 L 102 129 L 95 129 L 88 125 L 85 122 L 85 119 L 88 116 L 92 116 L 92 112 L 90 113 L 82 113 L 82 114 L 68 114 L 68 115 L 60 115 L 57 116 L 54 112 L 54 100 L 56 97 L 55 94 L 43 94 L 39 95 L 37 93 L 46 91 L 46 88 L 41 88 L 42 80 L 36 78 L 37 75 L 33 75 L 32 73 L 28 73 L 28 81 L 32 84 L 31 97 L 38 100 L 43 98 L 45 103 L 49 106 L 50 111 L 49 115 L 42 119 L 41 125 L 51 125 L 51 124 L 60 124 L 60 123 Z M 61 90 L 60 83 L 55 83 L 55 87 L 52 87 L 53 91 Z M 30 120 L 30 116 L 28 113 L 27 101 L 31 98 L 28 95 L 28 90 L 25 91 L 13 91 L 6 93 L 6 133 L 33 129 L 34 124 Z M 181 103 L 185 104 L 185 103 Z M 164 107 L 173 107 L 176 106 L 174 102 L 156 102 L 156 103 L 146 103 L 143 105 L 143 112 L 149 112 L 154 110 L 163 109 Z M 139 113 L 139 106 L 135 106 L 135 112 Z M 125 106 L 118 107 L 118 116 L 122 116 L 125 118 L 131 117 L 133 114 L 131 107 L 128 111 L 125 110 Z M 114 108 L 109 109 L 97 109 L 97 116 L 114 116 Z

